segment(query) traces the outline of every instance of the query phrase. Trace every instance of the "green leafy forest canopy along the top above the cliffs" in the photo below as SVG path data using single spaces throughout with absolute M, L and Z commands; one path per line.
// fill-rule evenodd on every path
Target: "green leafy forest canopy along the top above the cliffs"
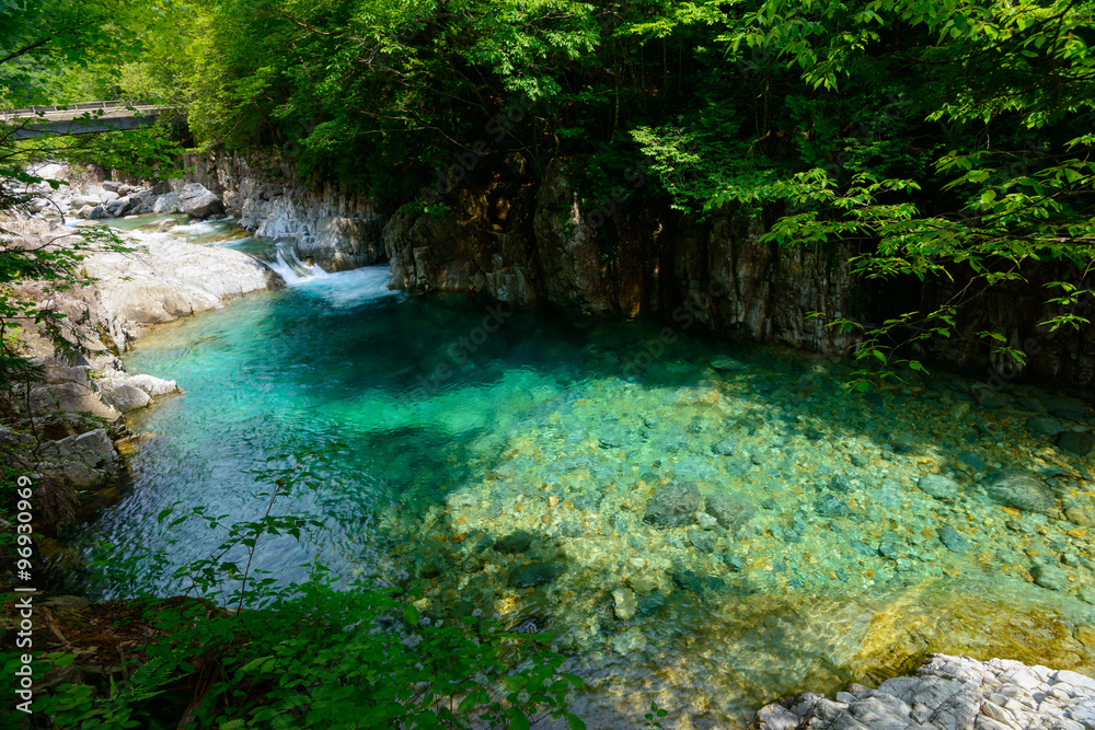
M 395 204 L 476 144 L 534 171 L 579 160 L 590 199 L 643 159 L 645 197 L 774 211 L 766 240 L 862 244 L 865 277 L 958 265 L 993 285 L 1060 260 L 1080 281 L 1095 243 L 1093 9 L 58 0 L 15 13 L 0 71 L 8 105 L 175 105 L 197 148 L 276 150 L 306 181 Z M 952 315 L 922 324 L 938 334 Z

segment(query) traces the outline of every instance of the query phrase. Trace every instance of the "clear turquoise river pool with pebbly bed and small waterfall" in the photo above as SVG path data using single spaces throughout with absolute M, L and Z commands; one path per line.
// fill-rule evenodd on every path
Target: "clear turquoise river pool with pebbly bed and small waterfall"
M 180 234 L 274 258 L 230 222 Z M 173 565 L 205 556 L 216 531 L 155 515 L 256 519 L 267 487 L 249 472 L 337 443 L 315 490 L 278 501 L 324 528 L 265 541 L 262 567 L 405 572 L 431 610 L 550 628 L 587 677 L 590 727 L 637 725 L 652 699 L 667 727 L 745 727 L 764 700 L 877 681 L 927 650 L 1091 671 L 1092 464 L 1027 427 L 1037 391 L 981 408 L 975 383 L 933 373 L 864 397 L 841 389 L 845 366 L 805 354 L 395 293 L 384 268 L 275 266 L 290 286 L 127 358 L 185 394 L 130 418 L 146 434 L 132 494 L 79 544 L 174 537 Z M 1054 508 L 990 499 L 999 466 L 1038 474 Z M 646 521 L 681 483 L 712 512 L 733 497 L 741 523 Z M 523 549 L 495 545 L 522 531 Z M 1065 582 L 1035 584 L 1039 566 Z

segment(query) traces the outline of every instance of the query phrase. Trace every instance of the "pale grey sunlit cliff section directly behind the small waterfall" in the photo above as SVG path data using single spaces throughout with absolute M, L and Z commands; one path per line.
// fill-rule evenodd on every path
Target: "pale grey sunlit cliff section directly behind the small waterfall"
M 240 224 L 267 239 L 291 239 L 297 256 L 327 271 L 384 260 L 383 219 L 376 202 L 334 186 L 313 190 L 273 161 L 252 164 L 228 153 L 185 155 L 176 188 L 200 183 Z

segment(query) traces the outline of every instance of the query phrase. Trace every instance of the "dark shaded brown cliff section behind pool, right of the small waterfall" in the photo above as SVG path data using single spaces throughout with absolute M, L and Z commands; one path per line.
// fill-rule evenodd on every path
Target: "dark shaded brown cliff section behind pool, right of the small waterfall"
M 832 351 L 846 337 L 806 320 L 849 311 L 843 251 L 781 251 L 759 242 L 760 220 L 708 220 L 631 206 L 588 210 L 565 160 L 538 185 L 456 194 L 429 216 L 404 206 L 385 225 L 392 286 L 542 301 L 584 313 L 658 314 L 761 340 Z M 500 212 L 499 212 L 500 211 Z

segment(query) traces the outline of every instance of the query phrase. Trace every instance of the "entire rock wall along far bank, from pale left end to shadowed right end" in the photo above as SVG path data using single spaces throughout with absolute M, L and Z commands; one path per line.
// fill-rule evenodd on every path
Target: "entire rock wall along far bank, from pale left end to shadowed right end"
M 956 287 L 917 282 L 865 287 L 850 270 L 848 246 L 763 244 L 761 217 L 731 208 L 681 216 L 630 197 L 641 176 L 619 205 L 590 209 L 565 159 L 538 177 L 506 161 L 495 182 L 447 195 L 443 212 L 427 213 L 415 201 L 387 219 L 362 196 L 306 190 L 288 170 L 267 165 L 276 172 L 256 174 L 223 154 L 186 162 L 186 179 L 219 193 L 245 228 L 295 239 L 299 257 L 327 270 L 388 259 L 395 289 L 470 292 L 586 314 L 648 314 L 675 329 L 699 324 L 831 354 L 846 352 L 856 336 L 808 318 L 810 312 L 880 322 L 897 311 L 934 311 L 957 293 Z M 1070 275 L 1042 271 L 1037 278 Z M 980 294 L 956 323 L 959 336 L 926 346 L 922 357 L 984 371 L 986 380 L 1006 382 L 1027 372 L 1095 382 L 1095 328 L 1039 327 L 1060 313 L 1044 300 L 1044 290 L 1025 285 Z M 1026 352 L 1026 364 L 978 336 L 986 329 L 1004 333 L 1010 346 Z

